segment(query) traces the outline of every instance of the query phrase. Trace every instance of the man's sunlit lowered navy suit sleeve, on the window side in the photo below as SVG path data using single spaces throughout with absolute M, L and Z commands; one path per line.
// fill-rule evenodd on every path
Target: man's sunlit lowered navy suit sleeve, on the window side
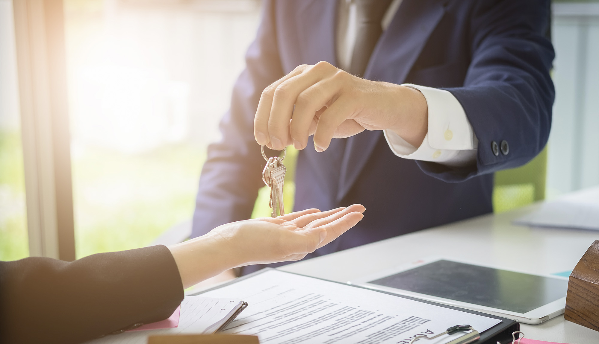
M 221 224 L 250 218 L 258 189 L 264 186 L 266 162 L 253 136 L 253 119 L 262 91 L 283 76 L 274 26 L 273 4 L 265 1 L 258 34 L 246 53 L 246 69 L 235 83 L 231 108 L 220 122 L 222 139 L 208 147 L 192 238 Z

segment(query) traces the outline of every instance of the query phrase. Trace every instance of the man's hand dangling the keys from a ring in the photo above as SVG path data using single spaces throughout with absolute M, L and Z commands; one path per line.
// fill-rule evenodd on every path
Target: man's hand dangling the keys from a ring
M 427 132 L 428 107 L 418 90 L 355 77 L 328 62 L 301 65 L 268 86 L 254 119 L 260 145 L 282 150 L 293 144 L 324 151 L 332 138 L 391 129 L 419 147 Z

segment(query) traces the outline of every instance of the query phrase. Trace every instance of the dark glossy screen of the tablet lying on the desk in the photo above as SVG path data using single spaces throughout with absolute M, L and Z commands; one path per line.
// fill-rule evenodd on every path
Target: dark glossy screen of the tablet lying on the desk
M 568 281 L 438 260 L 368 283 L 526 313 L 561 299 Z

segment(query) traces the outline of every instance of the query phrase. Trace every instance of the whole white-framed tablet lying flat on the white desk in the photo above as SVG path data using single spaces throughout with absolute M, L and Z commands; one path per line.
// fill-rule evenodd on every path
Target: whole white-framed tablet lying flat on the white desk
M 350 283 L 525 324 L 540 324 L 563 313 L 568 289 L 567 278 L 444 258 L 418 260 Z

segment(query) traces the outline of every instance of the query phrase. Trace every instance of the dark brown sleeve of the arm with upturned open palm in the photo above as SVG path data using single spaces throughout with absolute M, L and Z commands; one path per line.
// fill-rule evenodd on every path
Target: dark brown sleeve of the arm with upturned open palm
M 183 300 L 165 246 L 93 254 L 72 262 L 0 262 L 0 342 L 80 343 L 168 318 Z

